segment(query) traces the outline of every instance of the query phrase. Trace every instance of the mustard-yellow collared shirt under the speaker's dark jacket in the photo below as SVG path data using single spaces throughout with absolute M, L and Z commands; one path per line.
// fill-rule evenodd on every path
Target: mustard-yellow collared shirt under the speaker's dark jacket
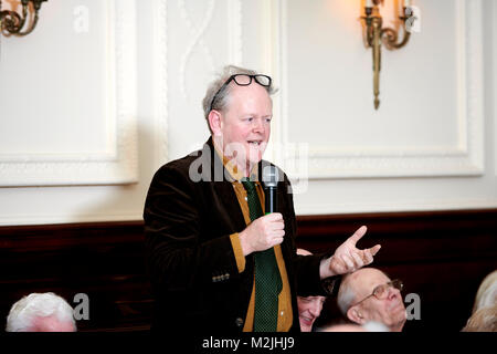
M 236 198 L 239 200 L 240 207 L 243 212 L 243 217 L 245 219 L 246 225 L 248 226 L 251 223 L 250 212 L 248 212 L 248 202 L 246 199 L 246 190 L 243 187 L 242 183 L 240 181 L 243 177 L 243 174 L 241 174 L 236 165 L 234 164 L 234 160 L 228 160 L 219 150 L 215 148 L 218 155 L 222 157 L 224 168 L 230 173 L 233 181 L 231 183 L 233 186 L 233 189 L 236 194 Z M 251 173 L 251 176 L 253 175 L 255 168 L 257 166 L 254 166 L 254 169 Z M 256 179 L 256 178 L 251 178 Z M 256 190 L 258 200 L 261 201 L 261 207 L 264 211 L 264 190 L 258 180 L 255 181 Z M 239 272 L 243 272 L 245 270 L 245 257 L 243 256 L 242 251 L 242 244 L 240 242 L 239 233 L 233 233 L 230 236 L 231 244 L 233 247 L 233 251 L 236 259 L 236 266 L 239 269 Z M 276 244 L 273 247 L 274 254 L 276 256 L 276 263 L 279 269 L 279 275 L 282 278 L 282 291 L 278 295 L 278 321 L 276 331 L 277 332 L 288 332 L 292 327 L 293 323 L 293 312 L 292 312 L 292 296 L 290 296 L 290 290 L 289 290 L 289 282 L 288 282 L 288 275 L 286 273 L 286 267 L 285 267 L 285 260 L 283 259 L 282 248 L 279 244 Z M 254 274 L 255 277 L 255 274 Z M 243 332 L 252 332 L 254 327 L 254 304 L 255 304 L 255 279 L 252 285 L 252 293 L 251 293 L 251 300 L 248 302 L 248 309 L 246 311 L 245 315 L 245 322 L 243 326 Z

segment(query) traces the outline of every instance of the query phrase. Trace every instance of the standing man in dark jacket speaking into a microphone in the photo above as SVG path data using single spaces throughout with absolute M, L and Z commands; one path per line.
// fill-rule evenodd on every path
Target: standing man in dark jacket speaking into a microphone
M 356 248 L 361 227 L 335 252 L 297 256 L 282 170 L 277 210 L 264 215 L 272 93 L 269 76 L 224 67 L 203 100 L 211 137 L 155 174 L 144 211 L 152 330 L 298 332 L 297 293 L 336 293 L 340 274 L 371 263 L 380 249 Z

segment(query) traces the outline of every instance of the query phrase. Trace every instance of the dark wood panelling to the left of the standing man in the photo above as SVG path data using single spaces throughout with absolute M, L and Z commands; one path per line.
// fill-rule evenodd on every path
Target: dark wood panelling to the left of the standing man
M 31 292 L 53 291 L 72 305 L 89 298 L 80 331 L 148 329 L 151 296 L 142 222 L 0 228 L 0 314 Z

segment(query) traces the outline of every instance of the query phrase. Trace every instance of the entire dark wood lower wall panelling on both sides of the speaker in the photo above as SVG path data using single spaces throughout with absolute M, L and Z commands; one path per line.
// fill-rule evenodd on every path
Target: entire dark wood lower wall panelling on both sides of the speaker
M 406 330 L 459 331 L 480 281 L 497 269 L 497 209 L 298 217 L 297 246 L 335 249 L 361 225 L 358 247 L 381 243 L 374 267 L 421 299 L 421 321 Z M 145 273 L 142 222 L 0 228 L 0 316 L 31 292 L 53 291 L 72 305 L 89 298 L 80 331 L 149 329 L 152 299 Z M 328 301 L 318 325 L 334 321 Z

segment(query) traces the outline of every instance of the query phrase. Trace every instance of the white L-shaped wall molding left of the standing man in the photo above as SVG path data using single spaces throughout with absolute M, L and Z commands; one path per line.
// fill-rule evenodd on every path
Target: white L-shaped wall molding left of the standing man
M 0 186 L 121 185 L 138 180 L 136 13 L 133 0 L 107 0 L 106 110 L 110 148 L 0 155 Z

